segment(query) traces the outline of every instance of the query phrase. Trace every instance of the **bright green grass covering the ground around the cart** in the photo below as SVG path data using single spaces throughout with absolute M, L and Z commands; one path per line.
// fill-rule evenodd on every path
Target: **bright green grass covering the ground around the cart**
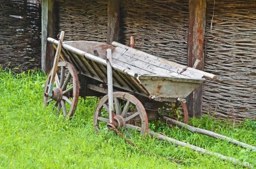
M 131 147 L 113 132 L 101 131 L 96 135 L 92 117 L 97 100 L 80 99 L 71 121 L 57 117 L 51 108 L 42 105 L 45 79 L 44 74 L 36 71 L 13 75 L 0 70 L 0 168 L 243 168 L 185 147 L 142 138 L 134 131 L 126 137 L 158 156 Z M 204 116 L 189 123 L 256 145 L 253 121 L 232 125 Z M 255 151 L 159 122 L 150 123 L 150 128 L 256 166 Z

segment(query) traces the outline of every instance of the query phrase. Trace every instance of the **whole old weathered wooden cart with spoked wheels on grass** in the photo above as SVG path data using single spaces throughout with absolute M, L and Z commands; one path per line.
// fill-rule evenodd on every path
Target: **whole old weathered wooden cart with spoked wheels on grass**
M 48 41 L 55 46 L 60 42 Z M 62 43 L 53 96 L 44 95 L 44 104 L 54 102 L 59 112 L 73 116 L 79 96 L 97 96 L 101 99 L 94 112 L 94 127 L 98 130 L 104 126 L 101 123 L 109 123 L 108 48 L 112 51 L 113 119 L 118 127 L 139 129 L 141 134 L 148 133 L 148 121 L 156 119 L 158 108 L 166 102 L 181 102 L 187 120 L 185 98 L 205 81 L 203 77 L 216 78 L 118 42 L 67 41 Z M 50 79 L 51 73 L 44 93 L 49 91 Z

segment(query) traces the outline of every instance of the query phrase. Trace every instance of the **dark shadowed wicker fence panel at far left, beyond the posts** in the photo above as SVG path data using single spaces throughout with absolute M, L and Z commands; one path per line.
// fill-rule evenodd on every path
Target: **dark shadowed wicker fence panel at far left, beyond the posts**
M 40 66 L 40 6 L 0 0 L 0 65 L 22 71 Z

